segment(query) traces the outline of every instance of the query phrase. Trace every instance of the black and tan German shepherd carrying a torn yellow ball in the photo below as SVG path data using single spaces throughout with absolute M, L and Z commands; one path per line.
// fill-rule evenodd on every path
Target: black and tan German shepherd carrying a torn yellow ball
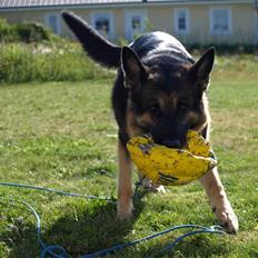
M 196 62 L 176 38 L 165 32 L 147 33 L 128 47 L 119 47 L 76 14 L 63 11 L 62 17 L 89 57 L 105 67 L 118 69 L 112 90 L 112 107 L 119 128 L 117 216 L 126 219 L 131 217 L 133 209 L 131 161 L 126 147 L 129 138 L 151 133 L 157 143 L 182 147 L 186 133 L 191 129 L 209 139 L 206 91 L 215 49 L 208 49 Z M 236 234 L 238 219 L 217 168 L 208 171 L 200 182 L 219 222 L 227 232 Z

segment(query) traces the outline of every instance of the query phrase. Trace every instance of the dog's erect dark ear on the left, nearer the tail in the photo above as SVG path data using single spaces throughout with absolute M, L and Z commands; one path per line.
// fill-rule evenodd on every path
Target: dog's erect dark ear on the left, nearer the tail
M 125 87 L 135 89 L 147 78 L 147 71 L 137 53 L 129 47 L 121 51 L 121 66 L 125 76 Z

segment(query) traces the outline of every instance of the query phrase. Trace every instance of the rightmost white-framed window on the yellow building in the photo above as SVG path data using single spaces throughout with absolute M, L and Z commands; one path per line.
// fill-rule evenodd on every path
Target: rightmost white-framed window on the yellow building
M 210 11 L 210 33 L 231 33 L 231 11 L 229 8 L 212 8 Z

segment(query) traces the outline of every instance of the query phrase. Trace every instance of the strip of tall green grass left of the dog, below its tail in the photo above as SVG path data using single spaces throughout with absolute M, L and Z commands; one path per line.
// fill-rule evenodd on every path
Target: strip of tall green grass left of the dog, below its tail
M 111 72 L 93 63 L 79 44 L 0 44 L 0 82 L 63 81 L 107 78 Z

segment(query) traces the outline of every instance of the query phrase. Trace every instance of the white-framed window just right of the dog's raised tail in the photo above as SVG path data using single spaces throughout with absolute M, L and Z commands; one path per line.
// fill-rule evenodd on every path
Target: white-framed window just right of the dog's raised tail
M 107 38 L 113 38 L 113 21 L 109 12 L 93 12 L 91 16 L 92 27 Z

